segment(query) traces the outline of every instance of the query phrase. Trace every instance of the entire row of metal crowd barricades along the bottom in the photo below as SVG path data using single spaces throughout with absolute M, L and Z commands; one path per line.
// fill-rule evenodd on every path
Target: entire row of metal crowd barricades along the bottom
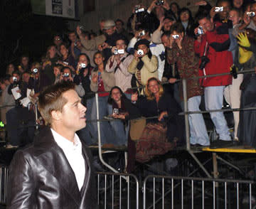
M 6 204 L 9 171 L 0 168 L 0 204 Z M 100 208 L 139 209 L 139 181 L 133 174 L 96 173 Z M 181 176 L 146 176 L 143 209 L 256 208 L 255 182 Z

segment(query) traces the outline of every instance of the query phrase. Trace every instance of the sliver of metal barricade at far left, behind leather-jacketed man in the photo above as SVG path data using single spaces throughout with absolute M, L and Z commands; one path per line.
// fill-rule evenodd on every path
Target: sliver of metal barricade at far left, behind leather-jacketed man
M 0 166 L 0 204 L 6 204 L 7 182 L 9 170 L 7 166 Z

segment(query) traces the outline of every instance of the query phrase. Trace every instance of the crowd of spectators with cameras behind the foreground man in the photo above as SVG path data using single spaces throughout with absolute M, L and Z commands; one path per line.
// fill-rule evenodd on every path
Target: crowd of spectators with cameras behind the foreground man
M 100 122 L 102 144 L 130 141 L 138 161 L 184 142 L 180 79 L 186 79 L 188 111 L 200 111 L 203 95 L 207 110 L 222 109 L 224 97 L 232 108 L 256 107 L 255 73 L 238 73 L 256 69 L 256 2 L 219 0 L 210 6 L 200 1 L 196 6 L 193 16 L 190 9 L 166 1 L 154 0 L 149 8 L 137 5 L 127 29 L 120 19 L 100 21 L 98 35 L 77 26 L 68 33 L 69 43 L 54 36 L 40 61 L 30 63 L 23 55 L 18 66 L 10 63 L 0 80 L 1 121 L 9 143 L 21 146 L 33 140 L 38 95 L 56 82 L 74 82 L 87 107 L 92 122 L 79 131 L 82 140 L 96 144 L 97 114 L 99 119 L 111 117 Z M 196 79 L 215 74 L 223 75 Z M 215 141 L 209 139 L 203 115 L 189 114 L 191 146 L 220 148 L 243 141 L 255 147 L 255 110 L 233 114 L 231 135 L 223 112 L 210 112 Z M 14 130 L 19 124 L 28 127 L 25 141 L 25 128 Z

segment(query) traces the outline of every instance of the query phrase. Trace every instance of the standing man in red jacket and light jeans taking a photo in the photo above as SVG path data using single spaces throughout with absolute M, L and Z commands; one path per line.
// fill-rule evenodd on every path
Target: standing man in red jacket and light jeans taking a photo
M 194 43 L 194 49 L 200 55 L 199 75 L 229 73 L 233 58 L 228 51 L 230 45 L 228 24 L 213 22 L 213 18 L 207 14 L 198 16 L 198 23 L 200 26 L 195 30 L 197 40 Z M 201 33 L 198 33 L 198 30 L 201 30 Z M 204 87 L 206 109 L 221 109 L 223 91 L 226 85 L 232 83 L 232 76 L 205 77 L 200 80 L 200 83 Z M 230 133 L 223 112 L 210 112 L 210 117 L 219 135 L 219 139 L 213 141 L 210 147 L 230 146 Z

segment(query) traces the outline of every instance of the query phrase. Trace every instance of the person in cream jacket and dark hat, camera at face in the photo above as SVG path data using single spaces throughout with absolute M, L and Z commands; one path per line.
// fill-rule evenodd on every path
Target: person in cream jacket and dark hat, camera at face
M 141 39 L 134 45 L 134 59 L 129 64 L 128 72 L 136 77 L 137 87 L 146 85 L 149 77 L 158 77 L 158 60 L 151 54 L 149 41 Z

